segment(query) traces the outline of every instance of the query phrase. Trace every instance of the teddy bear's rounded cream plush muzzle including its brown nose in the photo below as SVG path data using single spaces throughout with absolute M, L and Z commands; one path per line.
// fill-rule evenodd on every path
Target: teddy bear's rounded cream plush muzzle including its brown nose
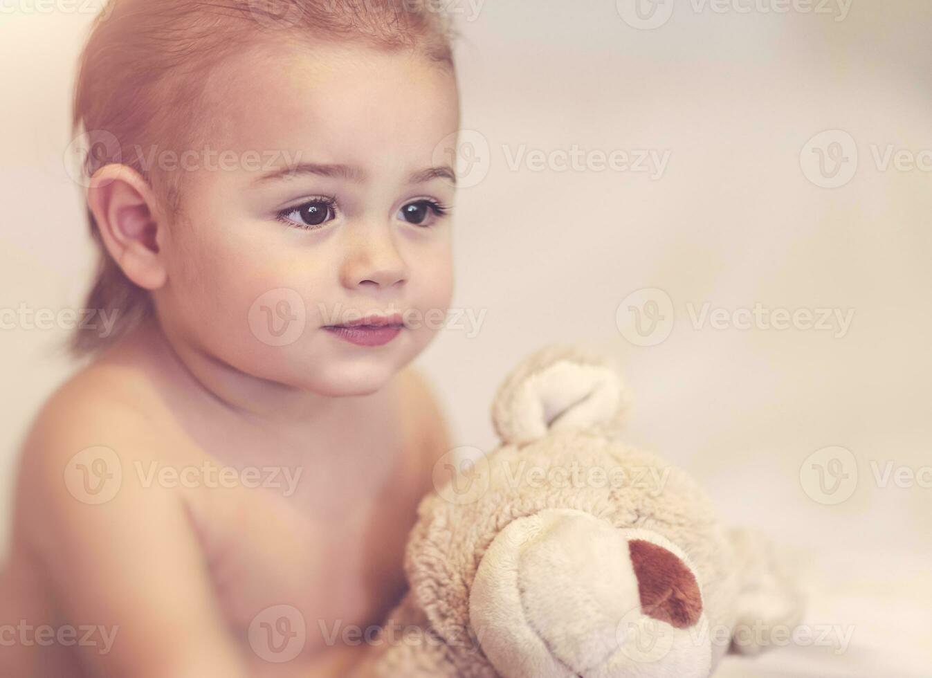
M 470 624 L 503 678 L 705 678 L 711 644 L 690 559 L 650 530 L 575 509 L 509 523 L 470 592 Z

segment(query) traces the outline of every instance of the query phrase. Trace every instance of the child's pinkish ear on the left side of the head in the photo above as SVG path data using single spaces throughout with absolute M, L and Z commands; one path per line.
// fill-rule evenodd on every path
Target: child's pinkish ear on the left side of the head
M 105 165 L 88 187 L 88 207 L 103 244 L 127 278 L 144 290 L 165 284 L 158 247 L 163 235 L 155 218 L 156 196 L 142 175 L 126 165 Z

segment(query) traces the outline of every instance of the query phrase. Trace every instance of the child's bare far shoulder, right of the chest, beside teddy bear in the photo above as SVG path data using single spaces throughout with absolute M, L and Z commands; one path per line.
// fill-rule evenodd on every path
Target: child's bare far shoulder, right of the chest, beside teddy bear
M 450 451 L 452 441 L 445 406 L 432 380 L 416 367 L 399 373 L 404 416 L 413 437 L 418 465 L 425 473 L 425 486 L 433 488 L 432 472 L 436 463 Z M 441 479 L 436 479 L 441 480 Z

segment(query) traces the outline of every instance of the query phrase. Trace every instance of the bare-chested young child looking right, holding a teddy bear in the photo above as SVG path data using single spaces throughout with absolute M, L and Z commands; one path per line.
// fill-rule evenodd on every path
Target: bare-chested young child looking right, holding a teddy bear
M 276 6 L 94 24 L 88 307 L 117 331 L 76 337 L 92 360 L 23 450 L 0 675 L 347 675 L 404 592 L 450 446 L 408 366 L 453 289 L 450 30 L 410 0 Z

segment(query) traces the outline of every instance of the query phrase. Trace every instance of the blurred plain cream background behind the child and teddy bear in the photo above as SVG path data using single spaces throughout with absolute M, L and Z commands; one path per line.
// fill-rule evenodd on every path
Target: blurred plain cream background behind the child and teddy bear
M 627 440 L 808 573 L 815 642 L 720 674 L 929 675 L 932 4 L 444 4 L 457 293 L 418 363 L 456 444 L 496 444 L 491 398 L 534 348 L 608 351 Z M 75 369 L 62 323 L 9 309 L 80 307 L 93 264 L 64 156 L 100 4 L 41 6 L 0 6 L 4 545 L 25 428 Z

